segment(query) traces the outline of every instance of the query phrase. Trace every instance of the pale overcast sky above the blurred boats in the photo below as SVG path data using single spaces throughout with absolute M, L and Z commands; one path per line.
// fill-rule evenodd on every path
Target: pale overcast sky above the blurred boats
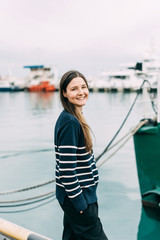
M 0 75 L 24 65 L 100 74 L 160 54 L 159 0 L 0 0 Z

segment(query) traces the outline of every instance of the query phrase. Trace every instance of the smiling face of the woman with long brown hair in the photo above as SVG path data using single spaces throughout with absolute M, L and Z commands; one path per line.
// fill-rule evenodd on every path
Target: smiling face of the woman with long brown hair
M 76 77 L 67 85 L 66 92 L 63 92 L 63 95 L 68 98 L 70 103 L 74 104 L 81 110 L 87 102 L 89 90 L 84 79 Z

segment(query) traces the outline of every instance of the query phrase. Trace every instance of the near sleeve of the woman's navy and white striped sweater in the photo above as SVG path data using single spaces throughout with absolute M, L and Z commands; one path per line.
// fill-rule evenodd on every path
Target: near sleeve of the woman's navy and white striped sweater
M 59 179 L 77 211 L 87 208 L 87 202 L 76 174 L 76 152 L 80 134 L 80 124 L 74 120 L 68 120 L 58 138 Z

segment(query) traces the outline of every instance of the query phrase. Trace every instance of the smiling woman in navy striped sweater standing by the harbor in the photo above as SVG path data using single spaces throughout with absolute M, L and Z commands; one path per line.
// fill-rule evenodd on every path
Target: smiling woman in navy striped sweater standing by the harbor
M 78 71 L 60 81 L 64 110 L 55 125 L 56 197 L 64 211 L 63 240 L 107 240 L 98 217 L 98 170 L 92 151 L 90 128 L 82 107 L 88 83 Z

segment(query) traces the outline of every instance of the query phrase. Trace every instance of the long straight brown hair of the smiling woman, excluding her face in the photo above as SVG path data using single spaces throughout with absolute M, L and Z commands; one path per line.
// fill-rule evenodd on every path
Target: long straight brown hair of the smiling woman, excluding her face
M 60 99 L 64 109 L 67 112 L 71 113 L 73 116 L 75 116 L 78 119 L 79 123 L 81 124 L 83 134 L 84 134 L 85 147 L 86 147 L 86 150 L 90 152 L 92 150 L 92 138 L 90 134 L 91 129 L 87 124 L 83 114 L 80 111 L 78 111 L 75 105 L 70 103 L 68 99 L 63 95 L 63 92 L 66 92 L 66 88 L 68 84 L 72 81 L 73 78 L 76 78 L 76 77 L 83 78 L 83 80 L 85 81 L 88 87 L 87 80 L 83 74 L 75 70 L 68 71 L 62 76 L 60 81 Z

